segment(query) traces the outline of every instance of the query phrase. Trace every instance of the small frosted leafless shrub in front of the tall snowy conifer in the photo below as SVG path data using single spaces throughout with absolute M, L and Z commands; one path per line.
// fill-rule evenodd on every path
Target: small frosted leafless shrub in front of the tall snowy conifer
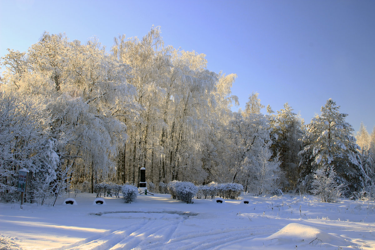
M 311 193 L 320 196 L 323 202 L 335 202 L 342 196 L 344 184 L 337 183 L 336 172 L 332 166 L 317 169 L 313 177 Z

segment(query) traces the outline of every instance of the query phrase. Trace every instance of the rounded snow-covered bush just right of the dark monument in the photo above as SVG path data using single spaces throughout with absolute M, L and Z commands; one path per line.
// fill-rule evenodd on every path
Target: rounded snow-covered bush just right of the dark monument
M 198 192 L 198 188 L 190 182 L 171 181 L 167 187 L 173 199 L 177 198 L 187 204 L 193 203 L 193 198 Z

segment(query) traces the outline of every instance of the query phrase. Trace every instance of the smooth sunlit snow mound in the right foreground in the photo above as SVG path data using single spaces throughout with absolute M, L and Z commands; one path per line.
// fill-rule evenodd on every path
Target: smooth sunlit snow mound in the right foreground
M 344 238 L 326 232 L 312 226 L 306 226 L 299 223 L 290 223 L 280 229 L 275 234 L 270 235 L 266 240 L 277 240 L 279 243 L 305 243 L 306 245 L 329 245 L 329 246 L 348 246 Z

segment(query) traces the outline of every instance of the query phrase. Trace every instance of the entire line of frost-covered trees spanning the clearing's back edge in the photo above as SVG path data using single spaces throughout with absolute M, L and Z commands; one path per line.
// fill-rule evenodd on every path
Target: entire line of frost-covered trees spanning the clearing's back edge
M 92 192 L 103 181 L 138 184 L 142 167 L 156 187 L 234 182 L 259 195 L 305 192 L 324 165 L 335 166 L 347 193 L 371 184 L 374 144 L 360 151 L 332 100 L 308 125 L 288 103 L 261 114 L 257 93 L 232 112 L 237 76 L 208 70 L 204 54 L 164 46 L 159 27 L 142 39 L 115 37 L 109 51 L 95 38 L 44 33 L 27 53 L 1 58 L 1 199 L 15 199 L 21 168 L 30 171 L 31 202 L 62 183 L 88 181 Z

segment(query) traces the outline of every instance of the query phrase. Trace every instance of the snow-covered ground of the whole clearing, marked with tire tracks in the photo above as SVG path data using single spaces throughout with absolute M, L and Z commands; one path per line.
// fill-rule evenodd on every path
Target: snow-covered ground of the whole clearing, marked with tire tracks
M 62 205 L 65 198 L 23 210 L 0 204 L 0 249 L 375 249 L 372 201 L 246 195 L 249 204 L 185 204 L 155 194 L 93 205 L 95 194 L 80 193 L 77 205 Z

